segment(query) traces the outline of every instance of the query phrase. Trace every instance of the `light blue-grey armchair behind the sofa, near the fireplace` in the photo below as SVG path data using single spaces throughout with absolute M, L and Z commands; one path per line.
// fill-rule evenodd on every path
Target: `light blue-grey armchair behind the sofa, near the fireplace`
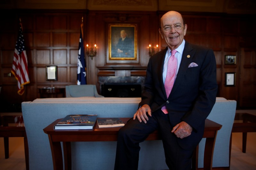
M 96 85 L 66 85 L 66 97 L 104 97 L 98 94 Z

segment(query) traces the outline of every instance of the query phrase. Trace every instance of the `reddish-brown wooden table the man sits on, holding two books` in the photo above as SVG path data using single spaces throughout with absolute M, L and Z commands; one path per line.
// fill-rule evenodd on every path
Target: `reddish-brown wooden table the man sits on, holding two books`
M 126 123 L 130 118 L 121 118 Z M 120 127 L 114 128 L 99 128 L 95 125 L 93 130 L 54 130 L 54 125 L 61 119 L 52 122 L 49 126 L 44 128 L 44 133 L 48 134 L 49 142 L 52 151 L 52 161 L 54 170 L 63 169 L 63 159 L 61 144 L 63 143 L 63 155 L 65 169 L 71 169 L 71 142 L 85 142 L 85 141 L 116 141 L 117 133 Z M 204 149 L 204 170 L 212 169 L 212 156 L 214 150 L 215 139 L 217 131 L 222 125 L 211 120 L 205 120 L 204 138 L 206 138 Z M 157 131 L 148 136 L 146 140 L 161 140 Z M 197 166 L 197 152 L 193 159 L 193 169 Z

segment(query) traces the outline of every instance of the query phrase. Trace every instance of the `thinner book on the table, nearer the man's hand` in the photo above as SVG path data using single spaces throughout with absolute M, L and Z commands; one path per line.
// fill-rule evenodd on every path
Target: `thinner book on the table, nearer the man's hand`
M 110 128 L 124 126 L 120 118 L 97 118 L 99 128 Z

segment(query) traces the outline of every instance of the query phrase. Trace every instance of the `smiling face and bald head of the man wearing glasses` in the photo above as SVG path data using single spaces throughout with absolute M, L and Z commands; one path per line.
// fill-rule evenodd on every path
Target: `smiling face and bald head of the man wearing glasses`
M 182 28 L 180 30 L 175 30 L 174 26 L 177 25 L 182 26 Z M 161 18 L 161 28 L 165 27 L 171 27 L 171 30 L 165 32 L 163 29 L 159 28 L 161 37 L 165 40 L 171 50 L 178 48 L 187 32 L 187 24 L 183 25 L 183 19 L 180 13 L 169 11 L 164 14 Z

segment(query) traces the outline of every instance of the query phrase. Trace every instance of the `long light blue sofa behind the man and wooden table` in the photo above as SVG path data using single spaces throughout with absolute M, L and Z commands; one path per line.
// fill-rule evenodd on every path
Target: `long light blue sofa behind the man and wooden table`
M 132 117 L 140 98 L 46 98 L 22 102 L 31 170 L 53 169 L 47 134 L 43 129 L 56 119 L 69 114 L 97 114 L 98 117 Z M 217 134 L 213 166 L 229 166 L 229 137 L 236 111 L 236 101 L 217 98 L 209 119 L 222 124 Z M 199 146 L 198 166 L 203 166 L 204 139 Z M 140 144 L 139 169 L 168 169 L 161 140 Z M 116 142 L 71 143 L 73 170 L 114 169 Z

